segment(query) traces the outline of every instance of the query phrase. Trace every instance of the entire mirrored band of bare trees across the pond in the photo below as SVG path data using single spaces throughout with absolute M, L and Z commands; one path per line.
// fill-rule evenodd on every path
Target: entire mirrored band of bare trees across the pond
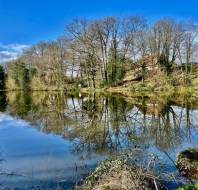
M 116 96 L 79 98 L 58 92 L 8 93 L 8 99 L 11 114 L 71 140 L 73 152 L 83 157 L 149 144 L 167 151 L 188 138 L 191 126 L 187 101 L 179 107 L 168 99 L 141 97 L 132 104 Z

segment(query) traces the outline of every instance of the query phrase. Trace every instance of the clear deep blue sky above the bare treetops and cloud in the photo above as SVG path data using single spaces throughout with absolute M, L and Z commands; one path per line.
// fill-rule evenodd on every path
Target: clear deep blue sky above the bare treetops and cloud
M 16 49 L 55 39 L 75 17 L 142 15 L 150 21 L 160 17 L 198 21 L 197 9 L 198 0 L 0 0 L 0 58 L 11 45 Z

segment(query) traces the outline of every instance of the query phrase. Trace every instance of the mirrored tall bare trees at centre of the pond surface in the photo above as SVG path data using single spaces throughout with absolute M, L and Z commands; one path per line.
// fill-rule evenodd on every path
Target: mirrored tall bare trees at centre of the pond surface
M 122 122 L 118 112 L 124 115 L 120 111 L 124 107 L 127 108 L 115 98 L 96 97 L 95 94 L 83 101 L 82 112 L 88 115 L 87 123 L 76 126 L 67 134 L 71 139 L 78 139 L 75 152 L 110 153 L 118 149 Z

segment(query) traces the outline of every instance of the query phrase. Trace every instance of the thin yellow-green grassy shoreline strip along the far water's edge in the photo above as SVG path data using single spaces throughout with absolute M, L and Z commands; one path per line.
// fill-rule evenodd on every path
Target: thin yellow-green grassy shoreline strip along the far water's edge
M 104 88 L 43 88 L 43 89 L 4 89 L 0 90 L 0 92 L 14 92 L 14 91 L 29 91 L 29 92 L 39 92 L 39 91 L 46 91 L 46 92 L 64 92 L 64 93 L 83 93 L 83 94 L 92 94 L 92 93 L 101 93 L 101 94 L 117 94 L 124 97 L 139 97 L 139 96 L 171 96 L 174 94 L 179 95 L 191 95 L 195 98 L 198 98 L 198 88 L 196 87 L 185 87 L 185 86 L 177 86 L 172 87 L 170 89 L 164 90 L 151 90 L 145 86 L 144 89 L 132 89 L 129 87 L 122 87 L 122 86 L 115 86 L 115 87 L 104 87 Z

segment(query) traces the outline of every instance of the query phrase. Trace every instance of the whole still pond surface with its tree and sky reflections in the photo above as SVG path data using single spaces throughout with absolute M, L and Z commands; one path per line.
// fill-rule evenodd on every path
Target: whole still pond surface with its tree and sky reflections
M 0 189 L 73 189 L 102 160 L 135 149 L 143 152 L 136 162 L 155 157 L 163 166 L 155 170 L 178 180 L 167 183 L 174 189 L 186 182 L 176 155 L 189 147 L 198 147 L 193 97 L 0 96 Z

